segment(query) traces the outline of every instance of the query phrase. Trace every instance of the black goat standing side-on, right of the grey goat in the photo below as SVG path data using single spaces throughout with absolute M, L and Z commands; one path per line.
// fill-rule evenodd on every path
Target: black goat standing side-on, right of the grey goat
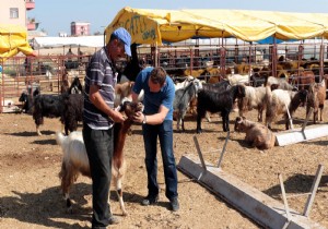
M 201 119 L 207 111 L 221 112 L 223 131 L 230 131 L 229 128 L 229 114 L 233 109 L 233 104 L 236 98 L 245 97 L 245 86 L 235 85 L 229 91 L 222 93 L 215 93 L 211 91 L 201 89 L 198 93 L 197 104 L 197 133 L 201 133 Z

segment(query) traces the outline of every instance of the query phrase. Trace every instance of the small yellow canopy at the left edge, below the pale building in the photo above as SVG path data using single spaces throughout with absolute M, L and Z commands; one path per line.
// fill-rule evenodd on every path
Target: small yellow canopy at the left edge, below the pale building
M 15 56 L 20 51 L 33 55 L 26 34 L 26 28 L 22 26 L 0 24 L 0 59 Z

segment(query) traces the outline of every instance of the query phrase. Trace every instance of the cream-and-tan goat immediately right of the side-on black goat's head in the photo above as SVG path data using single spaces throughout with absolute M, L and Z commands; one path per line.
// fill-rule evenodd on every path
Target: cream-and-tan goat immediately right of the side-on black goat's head
M 239 116 L 256 108 L 258 110 L 257 120 L 262 122 L 262 113 L 266 109 L 266 87 L 245 86 L 245 97 L 238 99 Z

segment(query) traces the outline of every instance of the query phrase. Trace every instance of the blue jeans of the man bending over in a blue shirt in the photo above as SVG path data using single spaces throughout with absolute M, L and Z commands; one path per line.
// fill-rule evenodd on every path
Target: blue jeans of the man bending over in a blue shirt
M 165 195 L 168 200 L 177 197 L 177 172 L 173 153 L 173 126 L 172 120 L 165 120 L 162 124 L 143 124 L 143 142 L 145 148 L 145 167 L 148 173 L 148 190 L 150 196 L 159 194 L 157 184 L 157 137 L 160 138 L 164 177 Z

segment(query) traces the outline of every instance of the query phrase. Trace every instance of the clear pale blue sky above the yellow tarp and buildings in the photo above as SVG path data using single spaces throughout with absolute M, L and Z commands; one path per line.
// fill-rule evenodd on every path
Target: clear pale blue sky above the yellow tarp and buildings
M 91 23 L 91 33 L 101 32 L 125 7 L 136 9 L 234 9 L 302 13 L 328 13 L 327 0 L 35 0 L 35 9 L 27 12 L 35 17 L 48 36 L 59 32 L 70 35 L 71 22 Z

